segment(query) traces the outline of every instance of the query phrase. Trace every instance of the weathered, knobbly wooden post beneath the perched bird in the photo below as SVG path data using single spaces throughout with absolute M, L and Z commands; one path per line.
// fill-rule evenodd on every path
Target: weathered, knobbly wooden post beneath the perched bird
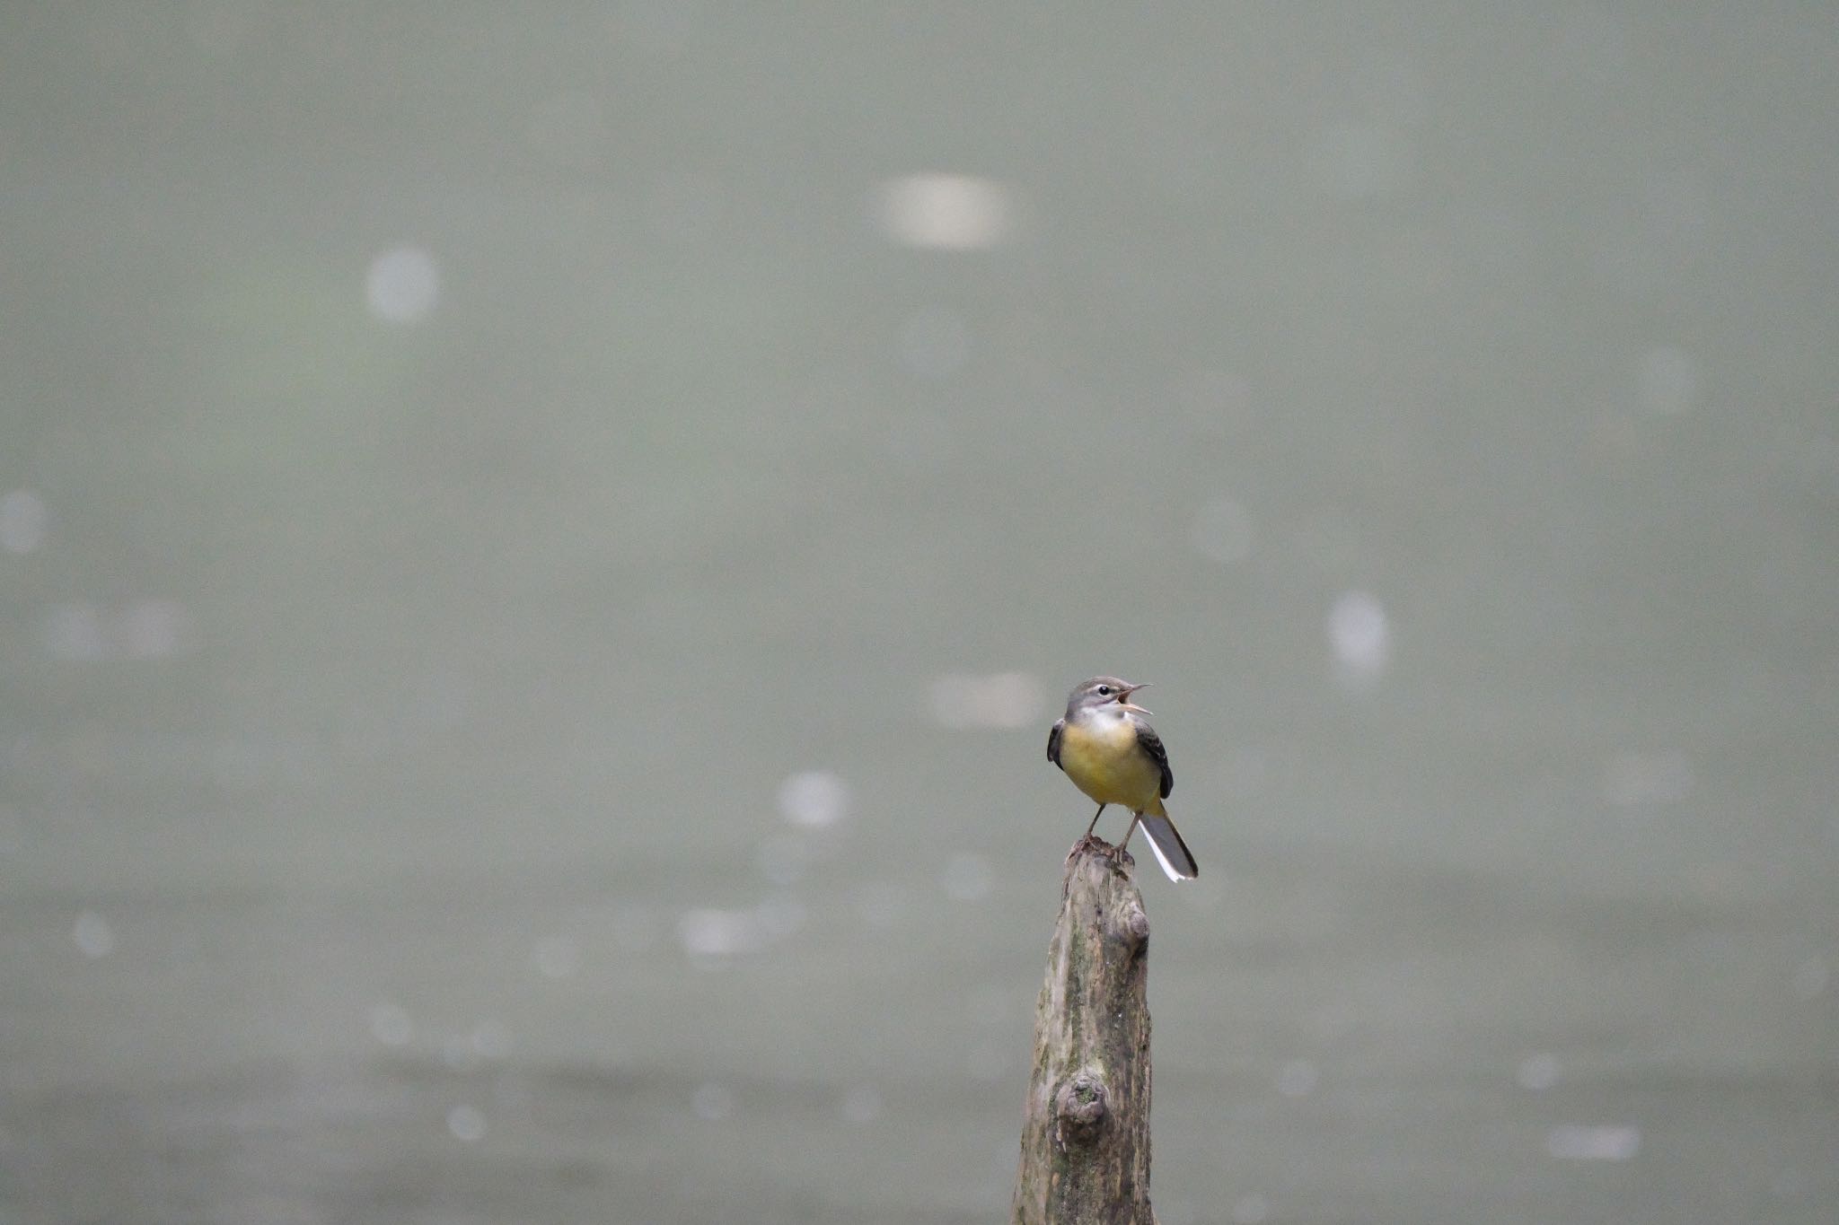
M 1155 1225 L 1149 1210 L 1149 916 L 1133 860 L 1079 839 L 1035 1005 L 1015 1225 Z

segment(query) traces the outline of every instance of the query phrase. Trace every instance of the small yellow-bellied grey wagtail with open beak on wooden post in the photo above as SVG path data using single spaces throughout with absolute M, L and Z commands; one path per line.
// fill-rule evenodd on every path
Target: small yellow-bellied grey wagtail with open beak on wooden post
M 1175 790 L 1168 749 L 1155 727 L 1140 718 L 1149 711 L 1131 702 L 1138 689 L 1148 685 L 1131 685 L 1116 676 L 1094 676 L 1078 685 L 1067 696 L 1067 716 L 1046 735 L 1046 759 L 1098 801 L 1087 837 L 1098 828 L 1107 804 L 1124 804 L 1133 815 L 1118 850 L 1129 845 L 1140 825 L 1168 878 L 1194 880 L 1201 867 L 1162 810 L 1162 801 Z

